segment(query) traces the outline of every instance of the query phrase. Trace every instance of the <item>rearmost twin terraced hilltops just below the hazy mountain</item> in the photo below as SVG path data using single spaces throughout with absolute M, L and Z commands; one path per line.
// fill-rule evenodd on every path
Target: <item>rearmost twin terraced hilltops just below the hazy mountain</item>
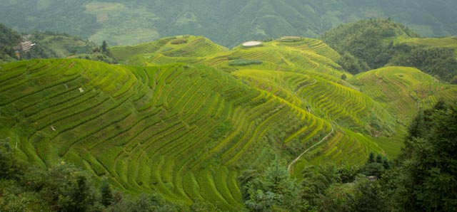
M 260 69 L 306 71 L 313 70 L 323 78 L 338 80 L 341 66 L 339 55 L 320 40 L 313 38 L 287 39 L 262 43 L 255 48 L 237 46 L 231 51 L 207 38 L 174 36 L 138 46 L 111 48 L 114 58 L 129 65 L 161 65 L 167 63 L 201 63 L 220 70 L 238 70 L 239 61 L 256 60 Z M 292 37 L 295 38 L 295 37 Z M 251 65 L 246 63 L 242 65 Z M 348 74 L 348 73 L 347 73 Z

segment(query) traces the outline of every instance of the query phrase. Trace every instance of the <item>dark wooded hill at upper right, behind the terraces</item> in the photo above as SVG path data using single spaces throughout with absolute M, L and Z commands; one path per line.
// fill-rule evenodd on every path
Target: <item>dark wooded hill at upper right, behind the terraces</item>
M 406 26 L 388 19 L 338 26 L 321 38 L 342 56 L 338 63 L 353 74 L 386 65 L 415 67 L 453 81 L 457 76 L 454 38 L 418 38 Z

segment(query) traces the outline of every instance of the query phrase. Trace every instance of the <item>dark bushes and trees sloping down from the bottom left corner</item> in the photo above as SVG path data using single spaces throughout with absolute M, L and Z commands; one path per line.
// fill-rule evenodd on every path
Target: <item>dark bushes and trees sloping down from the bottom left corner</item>
M 8 142 L 0 141 L 1 211 L 176 211 L 158 194 L 139 197 L 112 191 L 103 181 L 97 192 L 91 173 L 64 161 L 39 169 L 21 164 Z M 109 196 L 110 198 L 107 198 Z

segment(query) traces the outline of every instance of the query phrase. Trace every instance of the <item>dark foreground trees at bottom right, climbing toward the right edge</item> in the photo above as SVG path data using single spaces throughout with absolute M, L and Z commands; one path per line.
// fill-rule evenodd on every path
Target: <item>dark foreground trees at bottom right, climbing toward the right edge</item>
M 453 211 L 456 117 L 455 102 L 437 102 L 420 112 L 395 163 L 371 153 L 361 168 L 307 166 L 301 184 L 277 161 L 260 176 L 246 172 L 246 206 L 251 211 Z

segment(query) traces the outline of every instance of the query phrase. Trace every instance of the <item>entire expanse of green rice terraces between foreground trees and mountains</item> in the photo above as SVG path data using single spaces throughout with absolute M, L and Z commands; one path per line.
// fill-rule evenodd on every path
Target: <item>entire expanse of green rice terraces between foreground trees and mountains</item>
M 175 36 L 111 52 L 126 65 L 1 65 L 0 139 L 39 166 L 64 159 L 133 194 L 224 211 L 243 208 L 242 171 L 279 156 L 300 179 L 308 164 L 393 156 L 401 142 L 386 141 L 403 139 L 420 108 L 457 98 L 456 85 L 414 68 L 344 73 L 311 38 L 229 51 Z

